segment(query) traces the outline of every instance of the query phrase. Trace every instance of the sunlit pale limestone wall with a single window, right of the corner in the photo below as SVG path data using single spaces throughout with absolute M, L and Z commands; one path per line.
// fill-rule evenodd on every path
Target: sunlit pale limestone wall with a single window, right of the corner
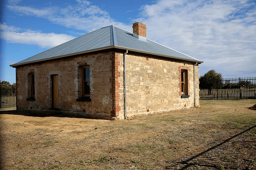
M 121 61 L 119 71 L 121 86 L 119 104 L 120 119 L 124 118 L 123 93 L 123 54 L 119 53 Z M 194 107 L 194 65 L 188 62 L 178 62 L 167 59 L 146 57 L 142 55 L 126 55 L 127 82 L 127 115 L 152 113 L 156 111 L 171 111 Z M 181 98 L 181 69 L 188 73 L 189 98 Z M 195 66 L 196 102 L 199 106 L 198 65 Z

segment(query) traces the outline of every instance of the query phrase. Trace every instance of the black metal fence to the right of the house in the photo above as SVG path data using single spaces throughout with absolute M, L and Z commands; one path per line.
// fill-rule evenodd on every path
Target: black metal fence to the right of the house
M 256 99 L 256 77 L 200 82 L 200 100 Z

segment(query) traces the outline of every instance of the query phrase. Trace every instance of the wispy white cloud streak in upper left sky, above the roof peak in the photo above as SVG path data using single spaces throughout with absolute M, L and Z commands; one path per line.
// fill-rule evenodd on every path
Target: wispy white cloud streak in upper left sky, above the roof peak
M 109 25 L 115 25 L 126 30 L 131 29 L 130 26 L 115 21 L 106 10 L 92 5 L 91 2 L 83 0 L 76 1 L 78 4 L 69 4 L 65 7 L 49 6 L 44 9 L 36 9 L 28 6 L 9 5 L 8 9 L 21 14 L 46 18 L 55 24 L 78 30 L 86 30 L 88 32 Z

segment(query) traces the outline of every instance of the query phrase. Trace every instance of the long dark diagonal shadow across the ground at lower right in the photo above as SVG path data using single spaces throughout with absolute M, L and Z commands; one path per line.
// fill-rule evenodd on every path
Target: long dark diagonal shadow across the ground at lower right
M 219 147 L 219 146 L 221 146 L 221 145 L 227 143 L 228 141 L 232 140 L 233 138 L 235 138 L 235 137 L 237 137 L 237 136 L 239 136 L 239 135 L 242 135 L 243 133 L 245 133 L 245 132 L 247 132 L 247 131 L 250 131 L 250 130 L 253 129 L 254 127 L 256 127 L 256 125 L 254 125 L 254 126 L 248 128 L 248 129 L 244 130 L 243 132 L 240 132 L 240 133 L 238 133 L 238 134 L 236 134 L 236 135 L 234 135 L 234 136 L 232 136 L 232 137 L 230 137 L 230 138 L 224 140 L 224 141 L 221 142 L 220 144 L 217 144 L 217 145 L 215 145 L 215 146 L 213 146 L 213 147 L 211 147 L 211 148 L 209 148 L 209 149 L 207 149 L 207 150 L 205 150 L 205 151 L 203 151 L 203 152 L 201 152 L 201 153 L 199 153 L 199 154 L 197 154 L 197 155 L 195 155 L 195 156 L 192 156 L 192 157 L 190 157 L 190 158 L 188 158 L 188 159 L 186 159 L 186 160 L 182 160 L 181 162 L 176 162 L 177 164 L 186 164 L 184 167 L 180 168 L 179 170 L 185 170 L 186 168 L 189 168 L 189 167 L 191 167 L 191 166 L 193 166 L 193 165 L 204 166 L 204 167 L 211 167 L 211 168 L 217 168 L 216 165 L 189 163 L 189 161 L 191 161 L 191 160 L 197 158 L 198 156 L 202 156 L 203 154 L 205 154 L 205 153 L 207 153 L 207 152 L 209 152 L 209 151 L 211 151 L 211 150 L 213 150 L 213 149 L 215 149 L 215 148 L 217 148 L 217 147 Z

